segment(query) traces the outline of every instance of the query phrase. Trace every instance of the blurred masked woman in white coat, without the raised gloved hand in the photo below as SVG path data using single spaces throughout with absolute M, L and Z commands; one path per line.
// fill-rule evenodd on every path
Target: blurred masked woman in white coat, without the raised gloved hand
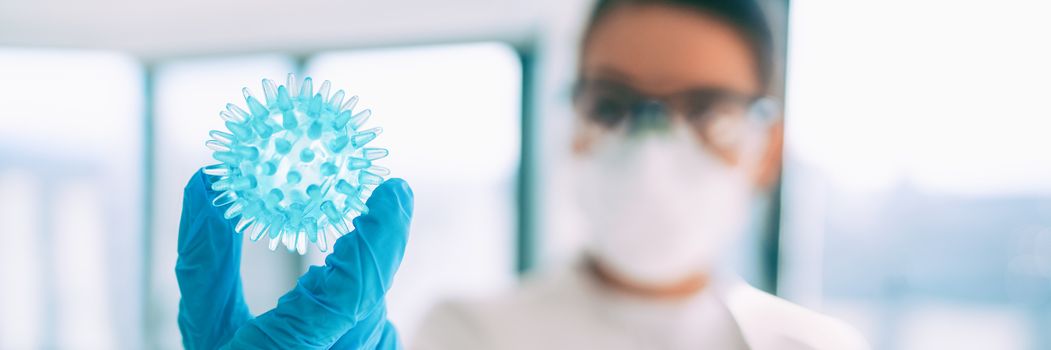
M 574 96 L 585 256 L 509 295 L 437 307 L 415 347 L 865 348 L 718 266 L 780 164 L 770 41 L 751 1 L 599 1 Z

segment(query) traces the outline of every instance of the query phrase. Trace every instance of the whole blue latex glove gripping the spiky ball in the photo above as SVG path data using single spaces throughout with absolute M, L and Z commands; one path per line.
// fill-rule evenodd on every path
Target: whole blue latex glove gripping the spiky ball
M 179 329 L 187 349 L 397 349 L 384 295 L 401 263 L 412 189 L 391 179 L 373 191 L 369 213 L 336 240 L 325 266 L 311 266 L 272 310 L 252 317 L 241 286 L 235 221 L 211 205 L 219 193 L 198 171 L 183 198 L 176 277 Z

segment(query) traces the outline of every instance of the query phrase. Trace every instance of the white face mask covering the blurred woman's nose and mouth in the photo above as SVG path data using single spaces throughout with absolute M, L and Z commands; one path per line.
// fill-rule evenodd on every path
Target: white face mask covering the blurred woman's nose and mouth
M 588 248 L 604 268 L 635 283 L 668 285 L 707 272 L 748 220 L 750 166 L 726 165 L 684 129 L 639 139 L 607 135 L 578 164 L 577 188 L 592 225 Z

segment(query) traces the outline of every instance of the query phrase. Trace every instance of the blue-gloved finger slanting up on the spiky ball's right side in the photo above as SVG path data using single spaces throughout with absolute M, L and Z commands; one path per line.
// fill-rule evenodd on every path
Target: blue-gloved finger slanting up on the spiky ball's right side
M 312 266 L 276 307 L 242 327 L 231 347 L 325 349 L 359 326 L 375 327 L 368 317 L 384 307 L 384 294 L 401 262 L 412 200 L 412 190 L 399 179 L 376 187 L 367 203 L 369 213 L 355 219 L 355 230 L 336 241 L 325 266 Z

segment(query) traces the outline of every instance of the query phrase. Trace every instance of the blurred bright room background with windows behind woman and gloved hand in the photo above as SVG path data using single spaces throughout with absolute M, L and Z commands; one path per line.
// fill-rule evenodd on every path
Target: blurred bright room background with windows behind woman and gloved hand
M 738 268 L 877 349 L 1051 349 L 1051 3 L 764 0 L 781 185 Z M 579 249 L 589 0 L 0 0 L 0 349 L 173 349 L 182 188 L 288 73 L 362 97 L 416 193 L 390 317 Z M 246 244 L 253 313 L 324 256 Z

